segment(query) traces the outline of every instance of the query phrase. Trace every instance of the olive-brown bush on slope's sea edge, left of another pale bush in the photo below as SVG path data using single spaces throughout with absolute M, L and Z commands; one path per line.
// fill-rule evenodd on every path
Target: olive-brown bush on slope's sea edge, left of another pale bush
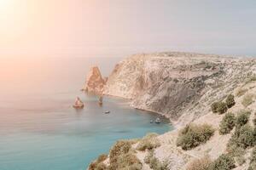
M 128 153 L 129 150 L 131 150 L 130 141 L 127 141 L 127 140 L 117 141 L 109 152 L 110 163 L 116 161 L 117 156 Z

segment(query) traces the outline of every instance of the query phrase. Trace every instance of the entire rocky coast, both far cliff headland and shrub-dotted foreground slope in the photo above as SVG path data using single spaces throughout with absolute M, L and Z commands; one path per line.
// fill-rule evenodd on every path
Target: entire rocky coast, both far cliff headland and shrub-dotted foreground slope
M 256 169 L 256 59 L 136 54 L 115 66 L 103 94 L 170 117 L 176 129 L 121 140 L 90 170 Z

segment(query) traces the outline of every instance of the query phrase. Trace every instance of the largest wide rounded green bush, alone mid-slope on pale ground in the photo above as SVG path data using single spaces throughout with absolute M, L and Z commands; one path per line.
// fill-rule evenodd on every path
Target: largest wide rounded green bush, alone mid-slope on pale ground
M 181 146 L 183 150 L 190 150 L 199 144 L 206 143 L 213 133 L 213 128 L 207 124 L 189 124 L 180 131 L 177 138 L 177 146 Z

